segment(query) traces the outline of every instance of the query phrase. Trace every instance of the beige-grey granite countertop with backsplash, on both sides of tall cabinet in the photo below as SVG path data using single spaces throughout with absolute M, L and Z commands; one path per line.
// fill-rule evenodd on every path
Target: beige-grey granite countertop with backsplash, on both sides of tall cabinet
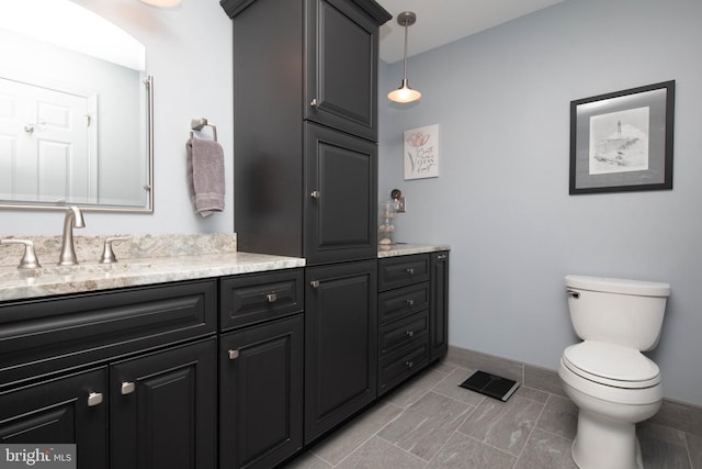
M 0 250 L 0 302 L 123 287 L 224 277 L 304 267 L 305 259 L 236 250 L 236 235 L 129 236 L 114 247 L 118 261 L 99 264 L 104 237 L 76 238 L 78 266 L 48 261 L 58 250 L 56 237 L 32 239 L 44 267 L 19 270 L 23 246 Z M 59 244 L 60 246 L 60 244 Z M 448 246 L 378 246 L 378 258 L 449 250 Z

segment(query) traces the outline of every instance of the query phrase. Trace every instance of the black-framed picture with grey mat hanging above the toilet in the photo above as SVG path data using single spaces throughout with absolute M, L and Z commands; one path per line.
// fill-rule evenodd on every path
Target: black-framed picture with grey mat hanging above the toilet
M 570 101 L 571 196 L 672 189 L 675 83 Z

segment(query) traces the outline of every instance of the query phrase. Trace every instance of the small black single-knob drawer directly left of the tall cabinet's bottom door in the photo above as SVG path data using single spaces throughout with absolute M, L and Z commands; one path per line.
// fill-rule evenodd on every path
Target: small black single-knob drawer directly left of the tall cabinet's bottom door
M 230 330 L 303 311 L 303 270 L 220 280 L 220 325 Z

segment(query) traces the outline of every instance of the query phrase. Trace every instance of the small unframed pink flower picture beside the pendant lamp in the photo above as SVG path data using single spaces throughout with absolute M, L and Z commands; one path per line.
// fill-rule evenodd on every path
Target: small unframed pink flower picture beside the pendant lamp
M 439 177 L 439 124 L 405 131 L 405 180 Z

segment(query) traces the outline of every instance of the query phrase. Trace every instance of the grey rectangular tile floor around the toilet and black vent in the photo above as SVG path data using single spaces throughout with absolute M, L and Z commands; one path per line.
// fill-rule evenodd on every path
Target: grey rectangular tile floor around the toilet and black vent
M 288 469 L 568 469 L 577 409 L 520 387 L 502 403 L 458 387 L 473 370 L 443 361 L 393 391 Z M 639 424 L 646 469 L 702 469 L 702 436 Z

